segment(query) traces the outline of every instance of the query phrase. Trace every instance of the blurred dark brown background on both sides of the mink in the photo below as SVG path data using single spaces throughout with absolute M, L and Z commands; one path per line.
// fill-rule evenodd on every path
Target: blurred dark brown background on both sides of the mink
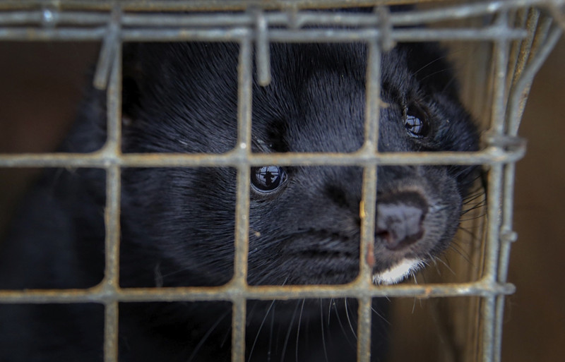
M 0 42 L 0 152 L 57 147 L 73 123 L 99 47 Z M 517 291 L 506 298 L 506 362 L 565 356 L 564 59 L 561 40 L 535 79 L 520 131 L 528 139 L 528 153 L 518 162 L 516 177 L 519 239 L 512 248 L 509 282 Z M 0 233 L 37 171 L 0 169 Z

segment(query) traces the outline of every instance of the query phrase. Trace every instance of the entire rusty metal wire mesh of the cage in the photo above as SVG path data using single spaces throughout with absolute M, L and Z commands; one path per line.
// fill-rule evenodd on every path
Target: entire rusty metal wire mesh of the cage
M 404 1 L 402 1 L 404 2 Z M 354 1 L 348 5 L 393 4 L 398 1 Z M 95 86 L 107 88 L 107 143 L 92 154 L 0 155 L 0 167 L 99 167 L 107 171 L 106 270 L 105 279 L 86 290 L 0 291 L 0 303 L 83 303 L 105 305 L 105 361 L 117 361 L 118 303 L 128 301 L 231 301 L 232 361 L 243 361 L 245 351 L 246 301 L 275 298 L 324 298 L 348 296 L 359 300 L 358 361 L 369 361 L 371 298 L 376 296 L 478 296 L 481 313 L 482 361 L 498 361 L 504 295 L 513 292 L 506 283 L 512 231 L 514 162 L 524 153 L 516 134 L 525 98 L 533 76 L 557 42 L 561 29 L 547 12 L 558 17 L 563 1 L 518 0 L 462 4 L 427 11 L 388 13 L 379 8 L 373 14 L 311 13 L 299 8 L 337 6 L 339 1 L 285 1 L 263 3 L 278 11 L 264 13 L 254 1 L 42 1 L 0 3 L 0 40 L 102 40 L 95 73 Z M 274 4 L 274 5 L 273 5 Z M 157 10 L 246 9 L 240 13 L 153 13 Z M 548 9 L 545 12 L 529 6 Z M 544 7 L 545 6 L 545 7 Z M 96 11 L 93 11 L 96 10 Z M 148 11 L 137 13 L 131 11 Z M 492 25 L 466 28 L 395 28 L 401 25 L 463 21 L 492 16 Z M 270 26 L 276 25 L 273 29 Z M 283 28 L 280 27 L 283 25 Z M 364 25 L 359 28 L 316 30 L 304 25 Z M 238 143 L 225 155 L 121 154 L 121 42 L 131 41 L 215 41 L 239 43 Z M 384 154 L 377 152 L 379 126 L 381 49 L 407 40 L 481 40 L 493 44 L 489 84 L 492 113 L 487 147 L 479 152 L 421 152 Z M 269 80 L 269 42 L 365 42 L 369 47 L 366 140 L 352 154 L 252 154 L 251 79 L 253 46 L 256 47 L 258 79 Z M 479 100 L 484 103 L 483 100 Z M 487 99 L 487 104 L 489 100 Z M 490 108 L 490 107 L 489 107 Z M 487 108 L 487 109 L 489 109 Z M 485 108 L 482 108 L 485 109 Z M 246 284 L 247 235 L 249 230 L 249 170 L 263 164 L 357 165 L 364 167 L 362 240 L 360 272 L 355 282 L 331 286 L 249 286 Z M 483 164 L 489 167 L 486 250 L 484 272 L 475 282 L 444 284 L 400 284 L 374 286 L 367 265 L 367 246 L 374 230 L 376 166 L 385 164 Z M 237 168 L 237 203 L 234 277 L 225 286 L 177 287 L 168 289 L 121 289 L 119 287 L 119 200 L 122 167 L 232 166 Z

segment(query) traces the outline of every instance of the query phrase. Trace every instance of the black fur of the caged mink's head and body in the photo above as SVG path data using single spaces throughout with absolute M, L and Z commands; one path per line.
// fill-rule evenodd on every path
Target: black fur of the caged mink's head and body
M 366 53 L 362 44 L 273 44 L 273 81 L 253 89 L 254 151 L 361 147 Z M 380 151 L 477 150 L 475 126 L 434 44 L 401 44 L 384 54 L 381 77 L 387 106 L 381 109 Z M 236 142 L 237 45 L 130 44 L 124 49 L 123 98 L 124 152 L 227 152 Z M 62 150 L 102 146 L 104 99 L 92 92 Z M 414 107 L 429 122 L 421 138 L 405 127 L 406 110 Z M 375 272 L 444 251 L 458 227 L 472 170 L 379 167 Z M 362 169 L 285 172 L 286 181 L 272 193 L 251 188 L 249 284 L 352 281 L 358 273 Z M 123 169 L 121 286 L 229 281 L 235 181 L 228 167 Z M 2 245 L 0 287 L 100 282 L 104 187 L 102 170 L 46 171 Z M 387 220 L 406 212 L 421 221 L 409 225 L 416 229 L 410 238 L 392 247 L 389 238 L 398 230 Z M 375 301 L 379 310 L 383 303 Z M 1 361 L 101 361 L 100 306 L 0 308 Z M 355 358 L 355 301 L 249 301 L 248 310 L 252 361 Z M 386 337 L 382 320 L 374 320 L 376 360 Z M 122 304 L 120 361 L 228 361 L 230 322 L 229 303 Z

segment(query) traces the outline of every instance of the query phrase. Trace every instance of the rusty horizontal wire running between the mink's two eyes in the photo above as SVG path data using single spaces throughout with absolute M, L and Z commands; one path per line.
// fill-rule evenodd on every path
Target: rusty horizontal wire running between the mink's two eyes
M 501 150 L 487 147 L 479 152 L 389 152 L 354 153 L 269 153 L 242 157 L 239 152 L 227 154 L 147 153 L 109 155 L 94 153 L 28 153 L 0 154 L 0 167 L 96 167 L 113 164 L 121 167 L 237 167 L 277 164 L 280 166 L 364 166 L 367 164 L 500 164 L 516 162 L 525 154 L 524 147 Z

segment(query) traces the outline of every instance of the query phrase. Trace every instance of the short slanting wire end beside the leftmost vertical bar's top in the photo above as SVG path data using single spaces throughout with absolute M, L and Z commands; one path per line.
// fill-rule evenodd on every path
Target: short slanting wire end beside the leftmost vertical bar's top
M 112 59 L 116 54 L 117 47 L 119 47 L 120 21 L 121 8 L 116 5 L 112 8 L 112 16 L 102 41 L 102 49 L 100 49 L 100 56 L 94 73 L 93 84 L 99 90 L 105 90 L 108 85 L 110 71 L 112 70 Z

